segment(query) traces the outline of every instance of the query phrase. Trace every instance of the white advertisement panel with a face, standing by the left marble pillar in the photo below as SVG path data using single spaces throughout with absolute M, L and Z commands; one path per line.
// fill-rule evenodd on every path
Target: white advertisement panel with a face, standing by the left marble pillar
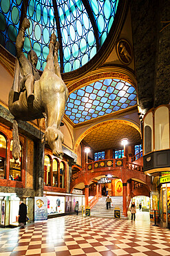
M 47 198 L 35 196 L 34 221 L 47 221 Z

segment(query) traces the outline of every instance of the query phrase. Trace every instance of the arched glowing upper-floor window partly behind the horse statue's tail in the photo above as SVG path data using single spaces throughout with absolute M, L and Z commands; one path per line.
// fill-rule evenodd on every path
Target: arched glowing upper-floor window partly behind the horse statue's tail
M 19 159 L 14 160 L 12 157 L 12 145 L 13 140 L 10 142 L 10 172 L 9 172 L 9 179 L 14 181 L 21 181 L 21 165 L 22 165 L 22 147 L 19 145 L 20 149 L 20 156 Z

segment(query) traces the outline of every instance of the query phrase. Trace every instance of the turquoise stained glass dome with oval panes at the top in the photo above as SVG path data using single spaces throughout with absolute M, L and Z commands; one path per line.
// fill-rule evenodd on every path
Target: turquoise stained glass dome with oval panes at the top
M 25 10 L 31 24 L 27 33 L 39 58 L 37 68 L 45 67 L 50 35 L 55 31 L 61 44 L 61 72 L 74 71 L 105 42 L 117 6 L 118 0 L 1 0 L 0 44 L 16 55 L 14 44 Z M 30 51 L 28 35 L 23 50 L 25 55 Z

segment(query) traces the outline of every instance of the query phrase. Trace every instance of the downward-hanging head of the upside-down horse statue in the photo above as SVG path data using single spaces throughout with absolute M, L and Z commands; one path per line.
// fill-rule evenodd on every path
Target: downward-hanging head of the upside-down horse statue
M 52 126 L 47 127 L 42 139 L 42 143 L 44 140 L 52 149 L 52 154 L 54 154 L 54 156 L 63 158 L 62 143 L 64 136 L 59 129 L 56 129 L 56 127 Z

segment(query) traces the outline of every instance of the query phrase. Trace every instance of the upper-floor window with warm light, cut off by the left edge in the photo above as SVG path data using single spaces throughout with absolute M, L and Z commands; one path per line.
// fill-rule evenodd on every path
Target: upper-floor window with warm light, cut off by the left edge
M 0 179 L 6 179 L 6 138 L 0 134 Z

